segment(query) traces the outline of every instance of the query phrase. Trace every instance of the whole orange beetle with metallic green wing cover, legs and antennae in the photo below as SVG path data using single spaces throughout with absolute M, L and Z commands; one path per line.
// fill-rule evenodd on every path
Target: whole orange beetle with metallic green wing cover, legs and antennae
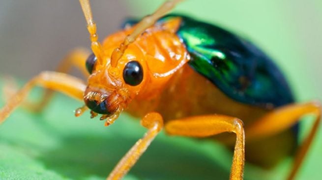
M 100 45 L 88 2 L 81 3 L 91 35 L 93 55 L 88 57 L 76 51 L 70 57 L 79 58 L 75 63 L 82 63 L 83 71 L 86 65 L 91 74 L 88 86 L 66 74 L 44 72 L 31 80 L 15 98 L 10 99 L 1 110 L 1 122 L 21 103 L 26 92 L 37 84 L 83 99 L 86 106 L 77 109 L 76 115 L 81 115 L 89 108 L 92 117 L 103 114 L 101 119 L 107 119 L 106 125 L 112 124 L 125 108 L 134 116 L 144 117 L 142 123 L 149 131 L 131 149 L 128 154 L 130 157 L 138 158 L 137 155 L 144 152 L 160 131 L 163 122 L 166 123 L 165 130 L 173 135 L 199 137 L 234 132 L 237 142 L 231 179 L 241 179 L 243 172 L 244 130 L 240 119 L 244 122 L 249 142 L 255 143 L 257 138 L 267 137 L 276 131 L 284 134 L 278 136 L 281 142 L 283 137 L 289 136 L 284 139 L 288 142 L 285 143 L 285 154 L 274 157 L 276 159 L 290 154 L 295 146 L 296 137 L 293 136 L 296 136 L 296 126 L 287 131 L 284 129 L 291 127 L 300 116 L 306 113 L 317 115 L 315 129 L 309 137 L 315 134 L 320 122 L 320 104 L 311 102 L 292 105 L 293 96 L 283 75 L 261 50 L 246 40 L 214 25 L 170 15 L 161 19 L 159 16 L 149 16 L 138 25 L 128 22 L 124 31 L 111 35 Z M 176 0 L 168 2 L 175 3 Z M 149 27 L 152 24 L 146 20 L 151 17 L 151 22 L 158 21 Z M 128 34 L 130 36 L 126 36 Z M 174 99 L 176 101 L 172 102 Z M 225 106 L 218 106 L 219 103 Z M 284 106 L 287 104 L 291 105 Z M 281 116 L 289 118 L 289 124 L 285 127 L 280 122 L 276 124 L 275 119 Z M 312 140 L 310 138 L 307 142 Z M 227 141 L 229 144 L 231 140 Z M 253 144 L 251 147 L 259 146 Z M 252 152 L 251 148 L 247 150 Z M 133 165 L 129 156 L 120 161 L 111 179 L 124 175 L 128 167 Z M 300 164 L 302 157 L 299 157 L 296 158 L 298 160 L 290 179 Z M 267 159 L 276 160 L 269 156 L 266 160 L 251 158 L 247 160 L 262 165 L 268 163 Z

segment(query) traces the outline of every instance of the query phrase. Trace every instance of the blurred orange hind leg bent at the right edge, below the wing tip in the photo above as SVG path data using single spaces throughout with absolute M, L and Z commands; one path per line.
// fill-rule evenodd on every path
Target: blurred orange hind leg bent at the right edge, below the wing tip
M 288 180 L 293 180 L 303 159 L 317 133 L 321 122 L 321 104 L 318 102 L 310 102 L 306 104 L 293 104 L 281 107 L 273 112 L 268 113 L 250 128 L 246 129 L 247 140 L 256 140 L 265 136 L 277 134 L 285 129 L 293 126 L 300 118 L 307 114 L 316 115 L 314 125 L 310 134 L 306 137 L 302 145 L 297 151 L 294 159 L 293 168 L 290 172 Z

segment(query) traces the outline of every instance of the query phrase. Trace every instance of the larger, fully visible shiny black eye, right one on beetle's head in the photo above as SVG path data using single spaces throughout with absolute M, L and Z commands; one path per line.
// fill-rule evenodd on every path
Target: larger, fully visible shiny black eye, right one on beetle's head
M 128 62 L 123 70 L 123 79 L 128 85 L 139 85 L 143 80 L 143 69 L 140 63 L 137 61 Z

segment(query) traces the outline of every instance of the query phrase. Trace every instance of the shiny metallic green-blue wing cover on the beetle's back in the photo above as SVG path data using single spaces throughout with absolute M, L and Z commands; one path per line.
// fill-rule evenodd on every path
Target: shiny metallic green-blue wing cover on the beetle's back
M 180 17 L 177 35 L 191 55 L 189 65 L 226 95 L 264 108 L 294 101 L 281 71 L 255 45 L 218 26 Z

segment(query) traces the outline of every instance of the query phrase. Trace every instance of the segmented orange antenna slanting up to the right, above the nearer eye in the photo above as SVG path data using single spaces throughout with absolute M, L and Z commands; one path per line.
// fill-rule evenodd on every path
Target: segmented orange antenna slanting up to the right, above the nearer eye
M 139 35 L 141 35 L 148 27 L 153 25 L 158 19 L 166 15 L 170 10 L 172 10 L 177 3 L 183 0 L 168 0 L 163 3 L 153 14 L 143 18 L 137 25 L 132 34 L 126 36 L 123 43 L 114 49 L 111 56 L 112 67 L 117 67 L 118 60 L 124 54 L 127 46 L 133 43 Z

